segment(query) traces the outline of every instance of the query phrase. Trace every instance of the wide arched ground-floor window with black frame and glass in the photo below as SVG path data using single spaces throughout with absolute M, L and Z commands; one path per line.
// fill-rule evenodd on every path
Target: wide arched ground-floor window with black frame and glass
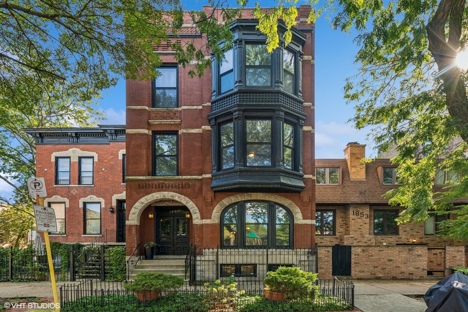
M 244 201 L 221 214 L 223 248 L 292 248 L 292 215 L 285 207 L 266 201 Z

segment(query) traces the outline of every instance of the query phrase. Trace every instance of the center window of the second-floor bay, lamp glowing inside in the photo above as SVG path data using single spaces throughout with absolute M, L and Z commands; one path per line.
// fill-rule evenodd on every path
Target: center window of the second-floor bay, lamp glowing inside
M 247 120 L 247 166 L 271 166 L 271 120 Z

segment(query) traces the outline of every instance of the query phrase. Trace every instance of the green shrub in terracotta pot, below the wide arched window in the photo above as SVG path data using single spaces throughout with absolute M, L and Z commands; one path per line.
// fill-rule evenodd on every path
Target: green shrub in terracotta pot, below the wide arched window
M 273 301 L 284 301 L 287 298 L 303 296 L 313 290 L 318 294 L 318 287 L 312 283 L 317 280 L 317 274 L 304 272 L 300 268 L 279 267 L 276 271 L 267 272 L 263 281 L 265 298 Z

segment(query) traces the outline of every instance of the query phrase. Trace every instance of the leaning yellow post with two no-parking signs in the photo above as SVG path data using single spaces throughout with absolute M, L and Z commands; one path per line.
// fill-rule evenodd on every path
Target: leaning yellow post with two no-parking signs
M 54 263 L 52 262 L 51 242 L 49 232 L 57 232 L 57 220 L 55 211 L 52 208 L 44 207 L 45 191 L 44 178 L 28 179 L 29 195 L 37 198 L 39 205 L 33 205 L 34 217 L 36 218 L 36 230 L 44 232 L 45 248 L 47 250 L 47 262 L 49 262 L 49 272 L 51 274 L 52 293 L 54 295 L 55 311 L 60 312 L 59 296 L 55 284 Z

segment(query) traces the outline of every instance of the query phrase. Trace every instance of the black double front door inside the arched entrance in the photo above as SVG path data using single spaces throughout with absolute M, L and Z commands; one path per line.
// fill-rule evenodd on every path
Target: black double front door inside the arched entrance
M 187 254 L 189 251 L 189 225 L 182 209 L 163 210 L 156 217 L 156 254 Z

